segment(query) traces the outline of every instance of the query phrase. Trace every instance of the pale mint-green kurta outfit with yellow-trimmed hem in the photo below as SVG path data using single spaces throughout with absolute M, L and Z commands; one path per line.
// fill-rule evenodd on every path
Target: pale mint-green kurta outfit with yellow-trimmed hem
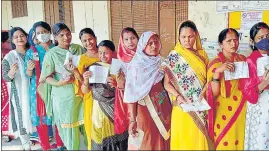
M 82 50 L 79 45 L 70 45 L 70 52 L 79 55 Z M 44 58 L 38 92 L 46 104 L 47 115 L 54 117 L 59 134 L 68 150 L 79 149 L 79 125 L 83 122 L 83 100 L 75 96 L 75 85 L 52 86 L 45 82 L 52 76 L 59 81 L 65 73 L 64 60 L 66 49 L 58 46 L 50 49 Z

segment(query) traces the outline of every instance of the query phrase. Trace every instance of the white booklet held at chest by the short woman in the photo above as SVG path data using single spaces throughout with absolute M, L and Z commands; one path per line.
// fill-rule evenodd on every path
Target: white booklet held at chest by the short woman
M 106 84 L 108 77 L 108 68 L 104 66 L 90 66 L 89 71 L 92 72 L 92 77 L 89 78 L 89 83 Z

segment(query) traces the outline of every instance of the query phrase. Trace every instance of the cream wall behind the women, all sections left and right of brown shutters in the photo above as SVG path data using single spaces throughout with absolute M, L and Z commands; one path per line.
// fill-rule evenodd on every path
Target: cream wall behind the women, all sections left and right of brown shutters
M 43 6 L 43 1 L 27 1 L 28 16 L 12 18 L 11 2 L 2 1 L 2 30 L 8 30 L 10 26 L 20 26 L 28 32 L 36 21 L 44 20 Z M 73 43 L 81 44 L 78 34 L 85 27 L 94 30 L 97 42 L 111 39 L 108 1 L 73 1 L 73 12 L 75 26 L 75 32 L 72 33 Z M 188 16 L 196 23 L 201 39 L 206 40 L 204 46 L 212 58 L 217 53 L 218 34 L 228 27 L 227 13 L 216 13 L 216 1 L 189 1 Z M 214 48 L 212 42 L 215 42 Z M 248 42 L 248 38 L 242 42 Z

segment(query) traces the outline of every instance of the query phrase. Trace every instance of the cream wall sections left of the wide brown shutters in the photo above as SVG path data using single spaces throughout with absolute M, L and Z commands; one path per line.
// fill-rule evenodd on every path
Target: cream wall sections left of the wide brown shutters
M 2 1 L 2 30 L 20 26 L 28 32 L 32 25 L 44 20 L 43 1 L 27 1 L 28 16 L 12 18 L 11 1 Z M 109 14 L 107 1 L 73 1 L 75 32 L 72 42 L 81 44 L 78 34 L 82 28 L 95 31 L 97 41 L 109 39 Z

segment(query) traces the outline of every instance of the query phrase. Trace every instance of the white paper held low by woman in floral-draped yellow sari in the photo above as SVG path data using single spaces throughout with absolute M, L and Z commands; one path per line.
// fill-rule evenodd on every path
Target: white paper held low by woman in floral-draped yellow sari
M 204 98 L 201 101 L 188 104 L 181 104 L 180 106 L 184 112 L 206 111 L 211 109 L 211 107 L 208 105 L 207 101 Z

